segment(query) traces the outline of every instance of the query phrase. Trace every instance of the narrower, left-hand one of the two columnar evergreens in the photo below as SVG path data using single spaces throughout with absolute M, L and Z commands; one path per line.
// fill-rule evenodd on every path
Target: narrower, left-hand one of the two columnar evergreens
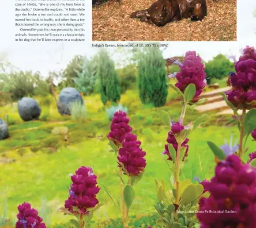
M 98 60 L 96 75 L 100 79 L 101 101 L 103 105 L 106 105 L 108 101 L 118 102 L 121 97 L 121 88 L 115 71 L 115 63 L 110 59 L 106 49 L 101 49 Z

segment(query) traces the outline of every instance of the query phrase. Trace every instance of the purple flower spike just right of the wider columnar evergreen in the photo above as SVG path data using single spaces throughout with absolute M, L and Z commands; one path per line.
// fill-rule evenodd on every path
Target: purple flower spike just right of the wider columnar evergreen
M 174 77 L 178 80 L 175 84 L 180 91 L 184 92 L 189 84 L 195 84 L 196 92 L 193 101 L 199 101 L 199 95 L 202 93 L 202 89 L 206 86 L 206 74 L 205 66 L 202 63 L 201 57 L 197 56 L 195 51 L 186 52 L 185 59 L 182 63 L 175 60 L 180 67 L 180 72 L 174 74 Z

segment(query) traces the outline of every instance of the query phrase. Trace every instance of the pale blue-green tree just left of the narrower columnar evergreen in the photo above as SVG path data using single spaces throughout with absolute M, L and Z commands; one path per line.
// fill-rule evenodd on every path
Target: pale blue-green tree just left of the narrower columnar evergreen
M 84 63 L 79 67 L 82 69 L 82 72 L 74 69 L 77 72 L 77 78 L 73 79 L 77 90 L 86 95 L 92 94 L 96 80 L 96 71 L 93 62 L 84 57 Z

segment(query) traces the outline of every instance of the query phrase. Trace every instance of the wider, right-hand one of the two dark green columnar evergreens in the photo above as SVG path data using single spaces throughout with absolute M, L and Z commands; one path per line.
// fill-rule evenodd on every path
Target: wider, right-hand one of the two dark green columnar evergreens
M 138 59 L 138 88 L 141 102 L 163 106 L 168 94 L 167 73 L 157 47 L 145 47 Z

